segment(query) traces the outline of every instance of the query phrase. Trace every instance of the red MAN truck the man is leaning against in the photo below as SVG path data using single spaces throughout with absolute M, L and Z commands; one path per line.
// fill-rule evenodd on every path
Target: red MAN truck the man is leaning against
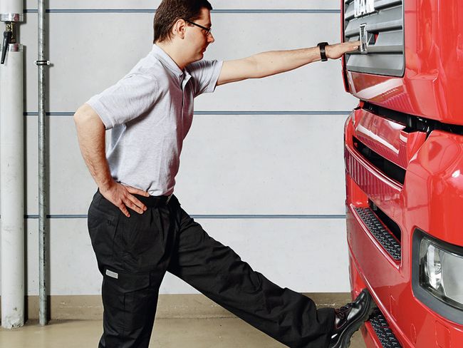
M 341 0 L 350 285 L 367 347 L 463 347 L 463 1 Z

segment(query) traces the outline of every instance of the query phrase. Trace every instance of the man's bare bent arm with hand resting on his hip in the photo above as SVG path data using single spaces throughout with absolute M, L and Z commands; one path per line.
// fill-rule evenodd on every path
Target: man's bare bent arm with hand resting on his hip
M 127 208 L 142 214 L 146 207 L 134 195 L 149 194 L 143 190 L 120 185 L 111 177 L 108 160 L 105 155 L 105 126 L 93 108 L 84 104 L 74 114 L 77 135 L 85 164 L 90 170 L 100 193 L 116 205 L 125 216 L 130 216 Z

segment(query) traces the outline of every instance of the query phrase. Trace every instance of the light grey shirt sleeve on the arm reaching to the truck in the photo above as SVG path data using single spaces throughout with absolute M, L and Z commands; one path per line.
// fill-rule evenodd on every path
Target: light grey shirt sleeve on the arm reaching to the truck
M 212 93 L 219 80 L 223 61 L 195 61 L 189 64 L 187 71 L 194 81 L 194 96 L 202 93 Z

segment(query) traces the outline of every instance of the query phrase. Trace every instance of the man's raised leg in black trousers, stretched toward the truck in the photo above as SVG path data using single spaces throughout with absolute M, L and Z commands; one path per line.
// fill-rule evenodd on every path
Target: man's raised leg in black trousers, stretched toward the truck
M 334 309 L 282 289 L 212 239 L 180 208 L 177 255 L 169 272 L 289 347 L 328 347 Z

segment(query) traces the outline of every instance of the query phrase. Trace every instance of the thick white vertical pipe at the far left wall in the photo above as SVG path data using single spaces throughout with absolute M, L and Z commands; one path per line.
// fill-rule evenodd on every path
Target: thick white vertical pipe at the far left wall
M 3 0 L 2 0 L 3 1 Z M 1 326 L 24 325 L 24 107 L 22 45 L 0 65 Z

